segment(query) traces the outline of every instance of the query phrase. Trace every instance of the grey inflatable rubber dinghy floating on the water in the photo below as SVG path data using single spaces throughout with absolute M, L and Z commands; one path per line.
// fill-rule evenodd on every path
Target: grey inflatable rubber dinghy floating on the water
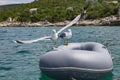
M 41 71 L 59 79 L 98 79 L 113 69 L 107 48 L 95 42 L 69 43 L 44 54 L 39 62 Z

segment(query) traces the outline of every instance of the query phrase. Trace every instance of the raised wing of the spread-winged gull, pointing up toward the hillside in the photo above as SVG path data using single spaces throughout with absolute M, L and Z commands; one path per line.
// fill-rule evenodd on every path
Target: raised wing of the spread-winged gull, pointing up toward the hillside
M 61 28 L 59 31 L 57 31 L 57 34 L 61 33 L 63 30 L 65 30 L 66 28 L 72 26 L 73 24 L 77 23 L 81 18 L 83 18 L 84 13 L 86 13 L 86 10 L 83 11 L 83 13 L 79 14 L 77 17 L 75 17 L 68 25 Z

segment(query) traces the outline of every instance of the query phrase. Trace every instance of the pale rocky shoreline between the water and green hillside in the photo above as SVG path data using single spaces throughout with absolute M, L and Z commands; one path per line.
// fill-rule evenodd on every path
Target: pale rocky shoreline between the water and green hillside
M 65 26 L 70 21 L 50 23 L 46 21 L 40 21 L 36 23 L 31 22 L 16 22 L 16 21 L 4 21 L 0 23 L 0 27 L 47 27 L 47 26 Z M 75 24 L 76 26 L 120 26 L 120 19 L 116 16 L 109 16 L 105 18 L 99 18 L 94 20 L 81 20 Z

